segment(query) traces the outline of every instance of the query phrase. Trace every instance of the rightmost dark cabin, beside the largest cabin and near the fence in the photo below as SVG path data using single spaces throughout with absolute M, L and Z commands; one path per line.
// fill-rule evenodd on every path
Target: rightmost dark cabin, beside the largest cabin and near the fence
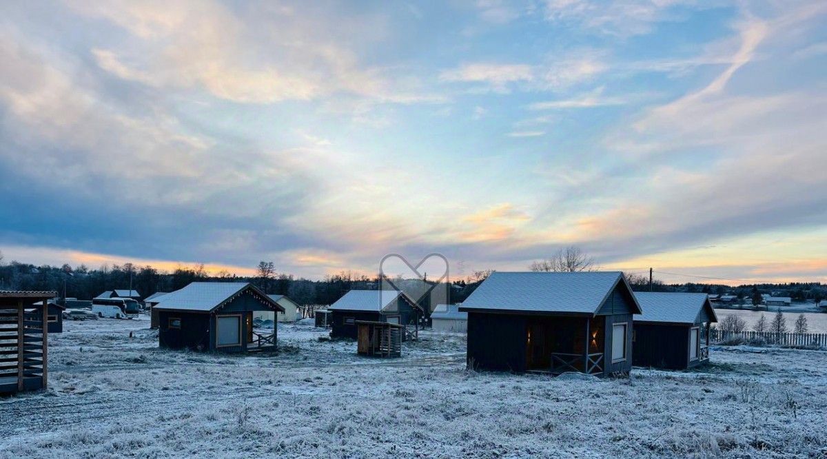
M 634 316 L 635 366 L 686 370 L 710 361 L 710 323 L 718 322 L 707 294 L 635 294 L 643 307 Z

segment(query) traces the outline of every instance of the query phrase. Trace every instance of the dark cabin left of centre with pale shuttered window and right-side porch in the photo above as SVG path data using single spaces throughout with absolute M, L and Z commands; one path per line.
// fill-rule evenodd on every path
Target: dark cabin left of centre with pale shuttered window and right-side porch
M 160 347 L 197 351 L 275 350 L 276 333 L 253 330 L 255 311 L 284 308 L 247 282 L 193 282 L 161 297 Z

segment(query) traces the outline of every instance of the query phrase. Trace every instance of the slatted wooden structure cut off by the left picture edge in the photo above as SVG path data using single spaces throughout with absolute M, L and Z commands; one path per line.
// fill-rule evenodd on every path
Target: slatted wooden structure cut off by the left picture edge
M 0 394 L 46 388 L 47 301 L 55 292 L 0 290 Z M 42 302 L 41 308 L 32 304 Z

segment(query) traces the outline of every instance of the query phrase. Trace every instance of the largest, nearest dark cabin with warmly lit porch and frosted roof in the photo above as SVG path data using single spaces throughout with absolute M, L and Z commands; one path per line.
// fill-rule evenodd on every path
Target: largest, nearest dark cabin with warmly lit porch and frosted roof
M 590 375 L 632 368 L 640 305 L 620 272 L 495 272 L 462 303 L 468 366 Z

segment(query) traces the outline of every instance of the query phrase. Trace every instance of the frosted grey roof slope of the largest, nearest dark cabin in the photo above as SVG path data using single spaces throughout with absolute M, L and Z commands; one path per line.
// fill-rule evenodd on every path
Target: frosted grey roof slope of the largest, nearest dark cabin
M 460 310 L 593 314 L 619 282 L 626 284 L 620 271 L 495 272 L 471 293 Z

